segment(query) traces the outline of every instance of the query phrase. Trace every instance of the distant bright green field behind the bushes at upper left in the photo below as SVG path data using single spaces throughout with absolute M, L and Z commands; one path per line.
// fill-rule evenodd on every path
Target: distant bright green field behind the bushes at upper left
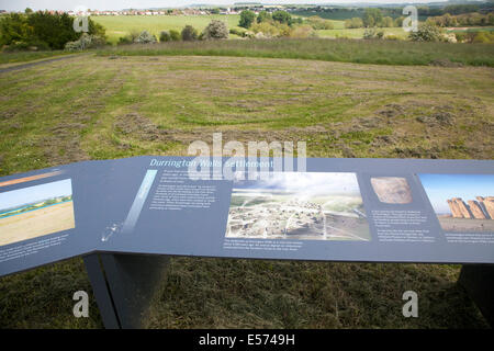
M 157 37 L 161 31 L 181 31 L 188 24 L 202 31 L 211 20 L 225 21 L 228 29 L 233 29 L 238 26 L 240 15 L 100 15 L 91 19 L 106 29 L 106 35 L 111 43 L 116 43 L 119 37 L 125 36 L 132 31 L 148 31 Z

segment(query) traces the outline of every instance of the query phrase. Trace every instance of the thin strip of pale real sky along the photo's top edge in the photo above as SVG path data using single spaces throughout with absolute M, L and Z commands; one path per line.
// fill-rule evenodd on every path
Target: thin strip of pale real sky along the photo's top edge
M 256 0 L 0 0 L 0 10 L 22 11 L 25 8 L 32 10 L 75 10 L 77 7 L 85 7 L 96 10 L 121 10 L 121 9 L 147 9 L 147 8 L 171 8 L 183 7 L 193 3 L 201 4 L 233 4 L 235 2 L 262 2 L 262 3 L 351 3 L 351 2 L 370 2 L 370 3 L 420 3 L 441 0 L 273 0 L 273 1 L 256 1 Z M 446 1 L 446 0 L 445 0 Z

